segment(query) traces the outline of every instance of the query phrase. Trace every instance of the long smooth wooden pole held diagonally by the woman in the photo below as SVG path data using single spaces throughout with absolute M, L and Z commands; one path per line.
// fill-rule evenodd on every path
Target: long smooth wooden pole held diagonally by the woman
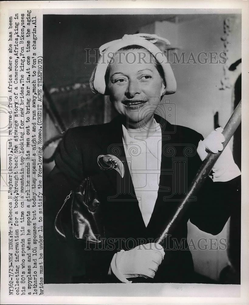
M 236 107 L 236 109 L 233 111 L 232 116 L 228 120 L 224 130 L 223 135 L 225 138 L 225 142 L 223 142 L 223 149 L 227 146 L 227 143 L 232 138 L 234 132 L 238 128 L 238 126 L 241 123 L 241 100 Z M 191 203 L 189 198 L 191 196 L 195 196 L 195 194 L 198 192 L 206 178 L 208 177 L 210 171 L 212 170 L 214 163 L 219 158 L 221 152 L 218 152 L 216 154 L 209 152 L 209 154 L 206 156 L 206 159 L 203 161 L 201 167 L 199 168 L 197 174 L 195 175 L 195 178 L 193 179 L 188 194 L 183 199 L 182 203 L 178 206 L 175 214 L 169 221 L 167 227 L 164 229 L 164 231 L 161 233 L 160 237 L 157 239 L 157 243 L 162 243 L 164 238 L 171 234 L 178 222 L 182 219 L 182 216 L 185 214 L 189 204 Z

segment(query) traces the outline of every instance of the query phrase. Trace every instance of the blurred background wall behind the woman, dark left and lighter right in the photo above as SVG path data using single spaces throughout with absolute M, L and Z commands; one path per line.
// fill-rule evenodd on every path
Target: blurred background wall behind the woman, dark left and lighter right
M 45 149 L 45 158 L 53 154 L 61 132 L 78 125 L 102 124 L 116 115 L 108 97 L 95 95 L 89 88 L 98 58 L 94 50 L 97 52 L 107 41 L 135 33 L 169 39 L 171 50 L 167 55 L 171 62 L 172 52 L 178 58 L 185 52 L 185 63 L 176 61 L 171 65 L 177 92 L 164 97 L 158 113 L 204 137 L 217 124 L 224 127 L 233 111 L 234 84 L 241 73 L 240 65 L 229 70 L 241 58 L 240 15 L 43 15 L 43 142 L 51 142 Z M 87 48 L 91 49 L 90 63 L 85 63 Z M 208 53 L 208 63 L 197 62 L 200 52 Z M 221 52 L 227 54 L 226 63 L 224 60 L 216 63 Z M 204 57 L 204 54 L 200 57 L 202 62 Z M 51 105 L 55 117 L 51 116 Z M 53 120 L 58 122 L 57 118 L 59 124 L 55 126 Z M 43 163 L 44 178 L 54 166 L 49 161 Z M 218 236 L 212 236 L 189 223 L 188 239 L 195 242 L 199 238 L 227 239 L 228 228 L 229 221 Z M 195 270 L 213 280 L 218 280 L 220 271 L 230 264 L 226 250 L 192 250 L 192 255 Z

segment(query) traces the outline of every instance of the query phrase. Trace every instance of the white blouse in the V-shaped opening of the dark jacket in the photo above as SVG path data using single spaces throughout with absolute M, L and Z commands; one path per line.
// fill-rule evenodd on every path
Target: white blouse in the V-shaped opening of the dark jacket
M 141 132 L 134 139 L 122 125 L 126 160 L 146 227 L 156 203 L 161 169 L 161 126 L 154 122 L 156 127 L 148 138 Z

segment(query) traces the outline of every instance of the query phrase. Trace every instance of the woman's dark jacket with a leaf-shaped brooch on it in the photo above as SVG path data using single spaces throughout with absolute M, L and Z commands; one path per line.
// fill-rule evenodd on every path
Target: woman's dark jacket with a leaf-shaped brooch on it
M 45 283 L 119 282 L 108 276 L 114 253 L 140 243 L 155 241 L 174 214 L 201 160 L 196 152 L 202 135 L 187 127 L 172 125 L 155 115 L 162 129 L 161 175 L 158 196 L 147 228 L 138 206 L 122 140 L 119 117 L 110 123 L 69 129 L 60 144 L 55 167 L 44 183 Z M 112 154 L 123 161 L 125 174 L 101 170 L 99 155 Z M 105 249 L 84 243 L 62 243 L 54 232 L 54 219 L 65 197 L 87 176 L 100 196 Z M 117 181 L 121 181 L 118 183 Z M 165 257 L 151 282 L 192 282 L 193 261 L 187 245 L 187 221 L 200 230 L 218 234 L 233 209 L 240 205 L 240 178 L 228 182 L 206 179 L 205 185 L 184 219 L 164 242 Z

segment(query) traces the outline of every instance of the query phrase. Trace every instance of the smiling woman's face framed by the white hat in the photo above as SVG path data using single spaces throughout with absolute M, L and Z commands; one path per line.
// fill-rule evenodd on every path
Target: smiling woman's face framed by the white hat
M 132 124 L 146 124 L 153 117 L 164 90 L 151 56 L 146 50 L 127 50 L 116 54 L 109 65 L 110 101 Z

